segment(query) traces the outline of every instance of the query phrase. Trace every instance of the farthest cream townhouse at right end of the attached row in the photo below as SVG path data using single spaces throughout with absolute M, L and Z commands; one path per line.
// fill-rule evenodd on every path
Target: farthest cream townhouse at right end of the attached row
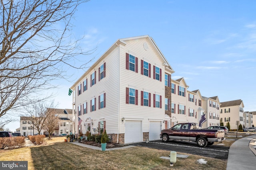
M 205 109 L 206 122 L 202 128 L 220 125 L 220 101 L 218 96 L 204 97 L 202 96 L 202 107 Z

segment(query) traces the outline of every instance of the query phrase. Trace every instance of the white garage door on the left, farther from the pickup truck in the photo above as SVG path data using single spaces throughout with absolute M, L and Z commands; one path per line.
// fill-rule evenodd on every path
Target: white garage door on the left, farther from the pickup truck
M 125 143 L 142 142 L 141 121 L 125 121 Z

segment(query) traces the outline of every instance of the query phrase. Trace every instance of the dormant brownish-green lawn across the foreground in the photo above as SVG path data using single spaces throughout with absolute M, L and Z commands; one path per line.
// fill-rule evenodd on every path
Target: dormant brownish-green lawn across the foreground
M 188 154 L 188 158 L 177 158 L 170 167 L 170 151 L 132 147 L 112 151 L 92 150 L 72 143 L 64 137 L 47 141 L 47 145 L 0 150 L 0 160 L 27 160 L 29 170 L 226 170 L 226 160 Z M 182 153 L 180 153 L 182 154 Z M 207 164 L 198 164 L 205 159 Z

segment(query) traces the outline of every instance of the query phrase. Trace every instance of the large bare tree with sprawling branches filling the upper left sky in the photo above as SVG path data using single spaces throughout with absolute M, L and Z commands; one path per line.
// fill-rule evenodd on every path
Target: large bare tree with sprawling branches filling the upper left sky
M 72 37 L 72 17 L 88 0 L 0 0 L 0 122 L 10 109 L 38 102 L 51 80 L 91 59 Z M 3 117 L 2 117 L 3 118 Z M 38 120 L 39 121 L 39 120 Z

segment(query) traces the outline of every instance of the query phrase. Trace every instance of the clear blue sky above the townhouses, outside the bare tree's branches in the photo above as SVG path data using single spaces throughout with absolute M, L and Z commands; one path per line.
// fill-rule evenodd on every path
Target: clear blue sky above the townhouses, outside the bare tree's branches
M 72 33 L 85 35 L 85 50 L 97 47 L 81 62 L 96 61 L 117 39 L 149 35 L 174 69 L 172 79 L 184 77 L 190 91 L 220 102 L 241 99 L 244 111 L 256 111 L 255 6 L 255 0 L 91 0 L 78 7 Z M 72 108 L 68 88 L 84 73 L 70 71 L 72 82 L 58 82 L 58 108 Z

